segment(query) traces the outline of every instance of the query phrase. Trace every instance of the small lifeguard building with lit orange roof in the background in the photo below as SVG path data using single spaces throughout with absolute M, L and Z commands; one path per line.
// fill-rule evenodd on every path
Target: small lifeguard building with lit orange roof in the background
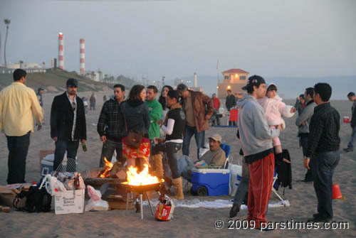
M 222 72 L 224 79 L 218 83 L 218 97 L 225 98 L 227 90 L 231 90 L 232 94 L 246 94 L 246 91 L 241 90 L 247 83 L 249 72 L 240 69 L 231 69 Z

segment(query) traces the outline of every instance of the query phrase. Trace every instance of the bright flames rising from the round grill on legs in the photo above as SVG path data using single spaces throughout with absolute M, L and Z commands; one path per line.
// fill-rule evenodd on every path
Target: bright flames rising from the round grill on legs
M 148 173 L 148 165 L 145 163 L 145 168 L 141 173 L 137 173 L 137 168 L 130 166 L 127 173 L 127 181 L 130 185 L 147 185 L 152 183 L 162 182 L 158 180 L 157 177 L 152 176 Z

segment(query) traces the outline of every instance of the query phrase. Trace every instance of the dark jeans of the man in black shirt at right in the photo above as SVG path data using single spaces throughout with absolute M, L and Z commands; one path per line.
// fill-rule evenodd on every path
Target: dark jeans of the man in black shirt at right
M 318 213 L 324 218 L 333 218 L 333 173 L 340 160 L 339 151 L 315 153 L 313 178 Z

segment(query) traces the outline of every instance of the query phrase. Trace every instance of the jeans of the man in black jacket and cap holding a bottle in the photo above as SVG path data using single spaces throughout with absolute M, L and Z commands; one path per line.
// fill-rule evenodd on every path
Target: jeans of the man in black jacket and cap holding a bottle
M 53 171 L 59 169 L 62 171 L 60 167 L 64 158 L 64 154 L 67 151 L 67 171 L 75 172 L 75 157 L 77 156 L 79 141 L 56 141 L 56 149 L 54 151 L 54 161 L 53 161 Z

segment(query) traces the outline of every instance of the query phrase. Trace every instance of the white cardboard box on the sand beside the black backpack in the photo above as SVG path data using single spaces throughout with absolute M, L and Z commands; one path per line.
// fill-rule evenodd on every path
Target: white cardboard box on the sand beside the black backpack
M 56 215 L 84 212 L 85 189 L 57 192 L 54 196 Z

